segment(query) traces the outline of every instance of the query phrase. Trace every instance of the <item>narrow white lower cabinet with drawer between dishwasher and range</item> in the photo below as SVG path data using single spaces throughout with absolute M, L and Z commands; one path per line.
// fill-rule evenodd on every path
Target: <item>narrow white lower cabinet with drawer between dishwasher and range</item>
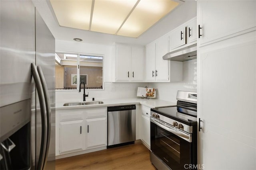
M 141 108 L 140 138 L 150 149 L 150 107 L 142 106 Z

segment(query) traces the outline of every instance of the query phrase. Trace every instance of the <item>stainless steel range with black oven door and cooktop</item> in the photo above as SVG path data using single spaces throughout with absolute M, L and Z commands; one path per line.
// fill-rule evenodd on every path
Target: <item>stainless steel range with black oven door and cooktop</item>
M 158 170 L 197 169 L 197 94 L 177 92 L 177 106 L 151 109 L 150 160 Z

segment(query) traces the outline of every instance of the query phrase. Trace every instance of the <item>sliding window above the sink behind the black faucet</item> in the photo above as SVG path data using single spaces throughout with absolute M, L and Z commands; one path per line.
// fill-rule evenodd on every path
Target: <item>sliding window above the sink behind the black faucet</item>
M 86 89 L 103 89 L 103 55 L 56 53 L 55 79 L 56 90 L 76 90 L 80 81 Z

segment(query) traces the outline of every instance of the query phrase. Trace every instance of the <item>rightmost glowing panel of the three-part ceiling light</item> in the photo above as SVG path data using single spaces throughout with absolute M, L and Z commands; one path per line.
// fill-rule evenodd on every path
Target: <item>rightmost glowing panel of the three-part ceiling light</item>
M 138 37 L 172 11 L 178 2 L 172 0 L 140 0 L 117 35 Z

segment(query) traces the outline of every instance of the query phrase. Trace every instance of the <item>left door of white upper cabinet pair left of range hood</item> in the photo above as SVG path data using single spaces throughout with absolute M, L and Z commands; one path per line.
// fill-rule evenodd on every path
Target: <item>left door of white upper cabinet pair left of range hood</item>
M 155 59 L 156 59 L 156 43 L 152 42 L 146 45 L 146 81 L 152 82 L 155 81 L 156 70 L 155 70 Z

